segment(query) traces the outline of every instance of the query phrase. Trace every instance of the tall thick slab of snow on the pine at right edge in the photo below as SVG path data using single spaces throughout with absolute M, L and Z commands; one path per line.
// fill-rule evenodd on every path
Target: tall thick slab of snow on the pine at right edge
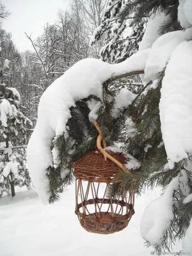
M 170 168 L 192 153 L 192 42 L 183 42 L 172 53 L 161 88 L 161 132 Z

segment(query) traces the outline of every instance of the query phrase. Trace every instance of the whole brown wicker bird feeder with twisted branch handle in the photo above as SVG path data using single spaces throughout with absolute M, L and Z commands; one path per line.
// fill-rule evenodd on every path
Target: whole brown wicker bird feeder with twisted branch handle
M 74 165 L 76 177 L 76 214 L 81 226 L 88 232 L 112 234 L 127 227 L 134 214 L 134 189 L 131 184 L 129 195 L 120 184 L 118 196 L 113 197 L 111 187 L 120 182 L 119 168 L 129 172 L 123 164 L 127 158 L 122 153 L 106 151 L 97 122 L 93 122 L 99 136 L 98 150 L 89 152 Z

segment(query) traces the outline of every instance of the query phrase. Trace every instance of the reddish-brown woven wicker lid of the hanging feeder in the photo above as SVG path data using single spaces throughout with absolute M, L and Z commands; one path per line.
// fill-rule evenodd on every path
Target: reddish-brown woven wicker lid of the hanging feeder
M 127 162 L 127 158 L 121 153 L 106 152 L 122 164 Z M 99 151 L 91 151 L 77 161 L 74 175 L 82 180 L 110 183 L 118 176 L 118 166 L 109 159 L 105 161 Z

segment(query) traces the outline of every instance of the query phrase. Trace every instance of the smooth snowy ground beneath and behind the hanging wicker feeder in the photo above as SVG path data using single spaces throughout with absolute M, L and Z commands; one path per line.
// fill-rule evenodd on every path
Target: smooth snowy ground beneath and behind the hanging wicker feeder
M 35 190 L 17 192 L 15 198 L 0 198 L 0 256 L 150 256 L 144 246 L 140 220 L 158 191 L 136 198 L 136 213 L 122 232 L 99 235 L 86 232 L 74 213 L 75 187 L 61 195 L 60 202 L 42 205 Z M 179 244 L 173 252 L 179 252 Z

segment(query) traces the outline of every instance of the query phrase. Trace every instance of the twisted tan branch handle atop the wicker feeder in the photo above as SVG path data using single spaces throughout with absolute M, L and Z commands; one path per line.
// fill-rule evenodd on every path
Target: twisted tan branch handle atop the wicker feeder
M 123 164 L 121 164 L 119 161 L 117 161 L 114 157 L 110 156 L 102 147 L 101 147 L 101 141 L 102 144 L 104 146 L 104 148 L 106 148 L 106 140 L 102 137 L 102 133 L 99 127 L 99 124 L 97 124 L 96 121 L 93 121 L 93 125 L 95 125 L 95 128 L 97 129 L 97 131 L 99 132 L 99 136 L 97 137 L 97 148 L 98 150 L 103 154 L 104 159 L 107 160 L 107 158 L 109 160 L 111 160 L 113 163 L 115 163 L 120 169 L 122 169 L 123 172 L 129 172 L 129 170 L 127 168 L 125 168 L 125 166 Z

